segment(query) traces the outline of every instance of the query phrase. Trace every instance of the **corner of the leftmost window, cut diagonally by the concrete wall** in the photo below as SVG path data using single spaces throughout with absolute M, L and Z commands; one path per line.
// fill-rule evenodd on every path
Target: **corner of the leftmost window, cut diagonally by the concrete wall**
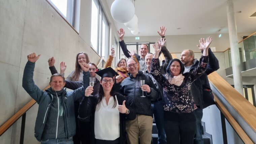
M 48 0 L 59 13 L 74 26 L 74 1 L 75 0 Z

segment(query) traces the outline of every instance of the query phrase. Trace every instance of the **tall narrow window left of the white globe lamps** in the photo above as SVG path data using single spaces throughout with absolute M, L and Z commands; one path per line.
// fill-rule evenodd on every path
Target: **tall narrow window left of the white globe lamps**
M 98 0 L 92 0 L 91 46 L 104 58 L 108 55 L 108 22 Z

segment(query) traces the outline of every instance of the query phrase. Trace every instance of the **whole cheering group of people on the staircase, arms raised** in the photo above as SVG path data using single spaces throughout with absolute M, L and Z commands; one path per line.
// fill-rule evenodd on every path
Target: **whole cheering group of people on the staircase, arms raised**
M 207 75 L 219 69 L 209 48 L 212 38 L 199 40 L 199 61 L 189 49 L 181 53 L 181 60 L 172 59 L 165 31 L 160 27 L 154 54 L 141 44 L 139 56 L 128 51 L 121 28 L 119 44 L 128 59 L 120 59 L 115 69 L 110 67 L 114 49 L 102 70 L 89 61 L 87 53 L 78 53 L 75 70 L 66 79 L 65 63 L 60 63 L 58 73 L 54 57 L 50 58 L 52 76 L 45 92 L 33 81 L 40 55 L 29 54 L 22 84 L 39 104 L 36 139 L 42 144 L 151 144 L 155 120 L 158 144 L 202 144 L 202 109 L 212 104 L 203 91 L 211 89 Z M 165 60 L 160 66 L 161 53 Z M 89 85 L 96 74 L 101 78 Z

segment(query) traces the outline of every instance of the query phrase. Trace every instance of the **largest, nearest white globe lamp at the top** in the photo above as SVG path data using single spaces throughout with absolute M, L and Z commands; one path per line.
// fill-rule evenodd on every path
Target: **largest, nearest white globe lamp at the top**
M 115 0 L 110 8 L 113 19 L 119 23 L 129 22 L 135 13 L 135 8 L 130 0 Z

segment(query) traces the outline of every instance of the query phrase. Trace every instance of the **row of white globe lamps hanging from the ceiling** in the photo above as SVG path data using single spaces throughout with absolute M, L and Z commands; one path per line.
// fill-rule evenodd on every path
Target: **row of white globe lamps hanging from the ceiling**
M 111 5 L 110 12 L 113 19 L 119 23 L 124 23 L 132 34 L 137 35 L 139 33 L 138 17 L 130 0 L 115 0 Z

